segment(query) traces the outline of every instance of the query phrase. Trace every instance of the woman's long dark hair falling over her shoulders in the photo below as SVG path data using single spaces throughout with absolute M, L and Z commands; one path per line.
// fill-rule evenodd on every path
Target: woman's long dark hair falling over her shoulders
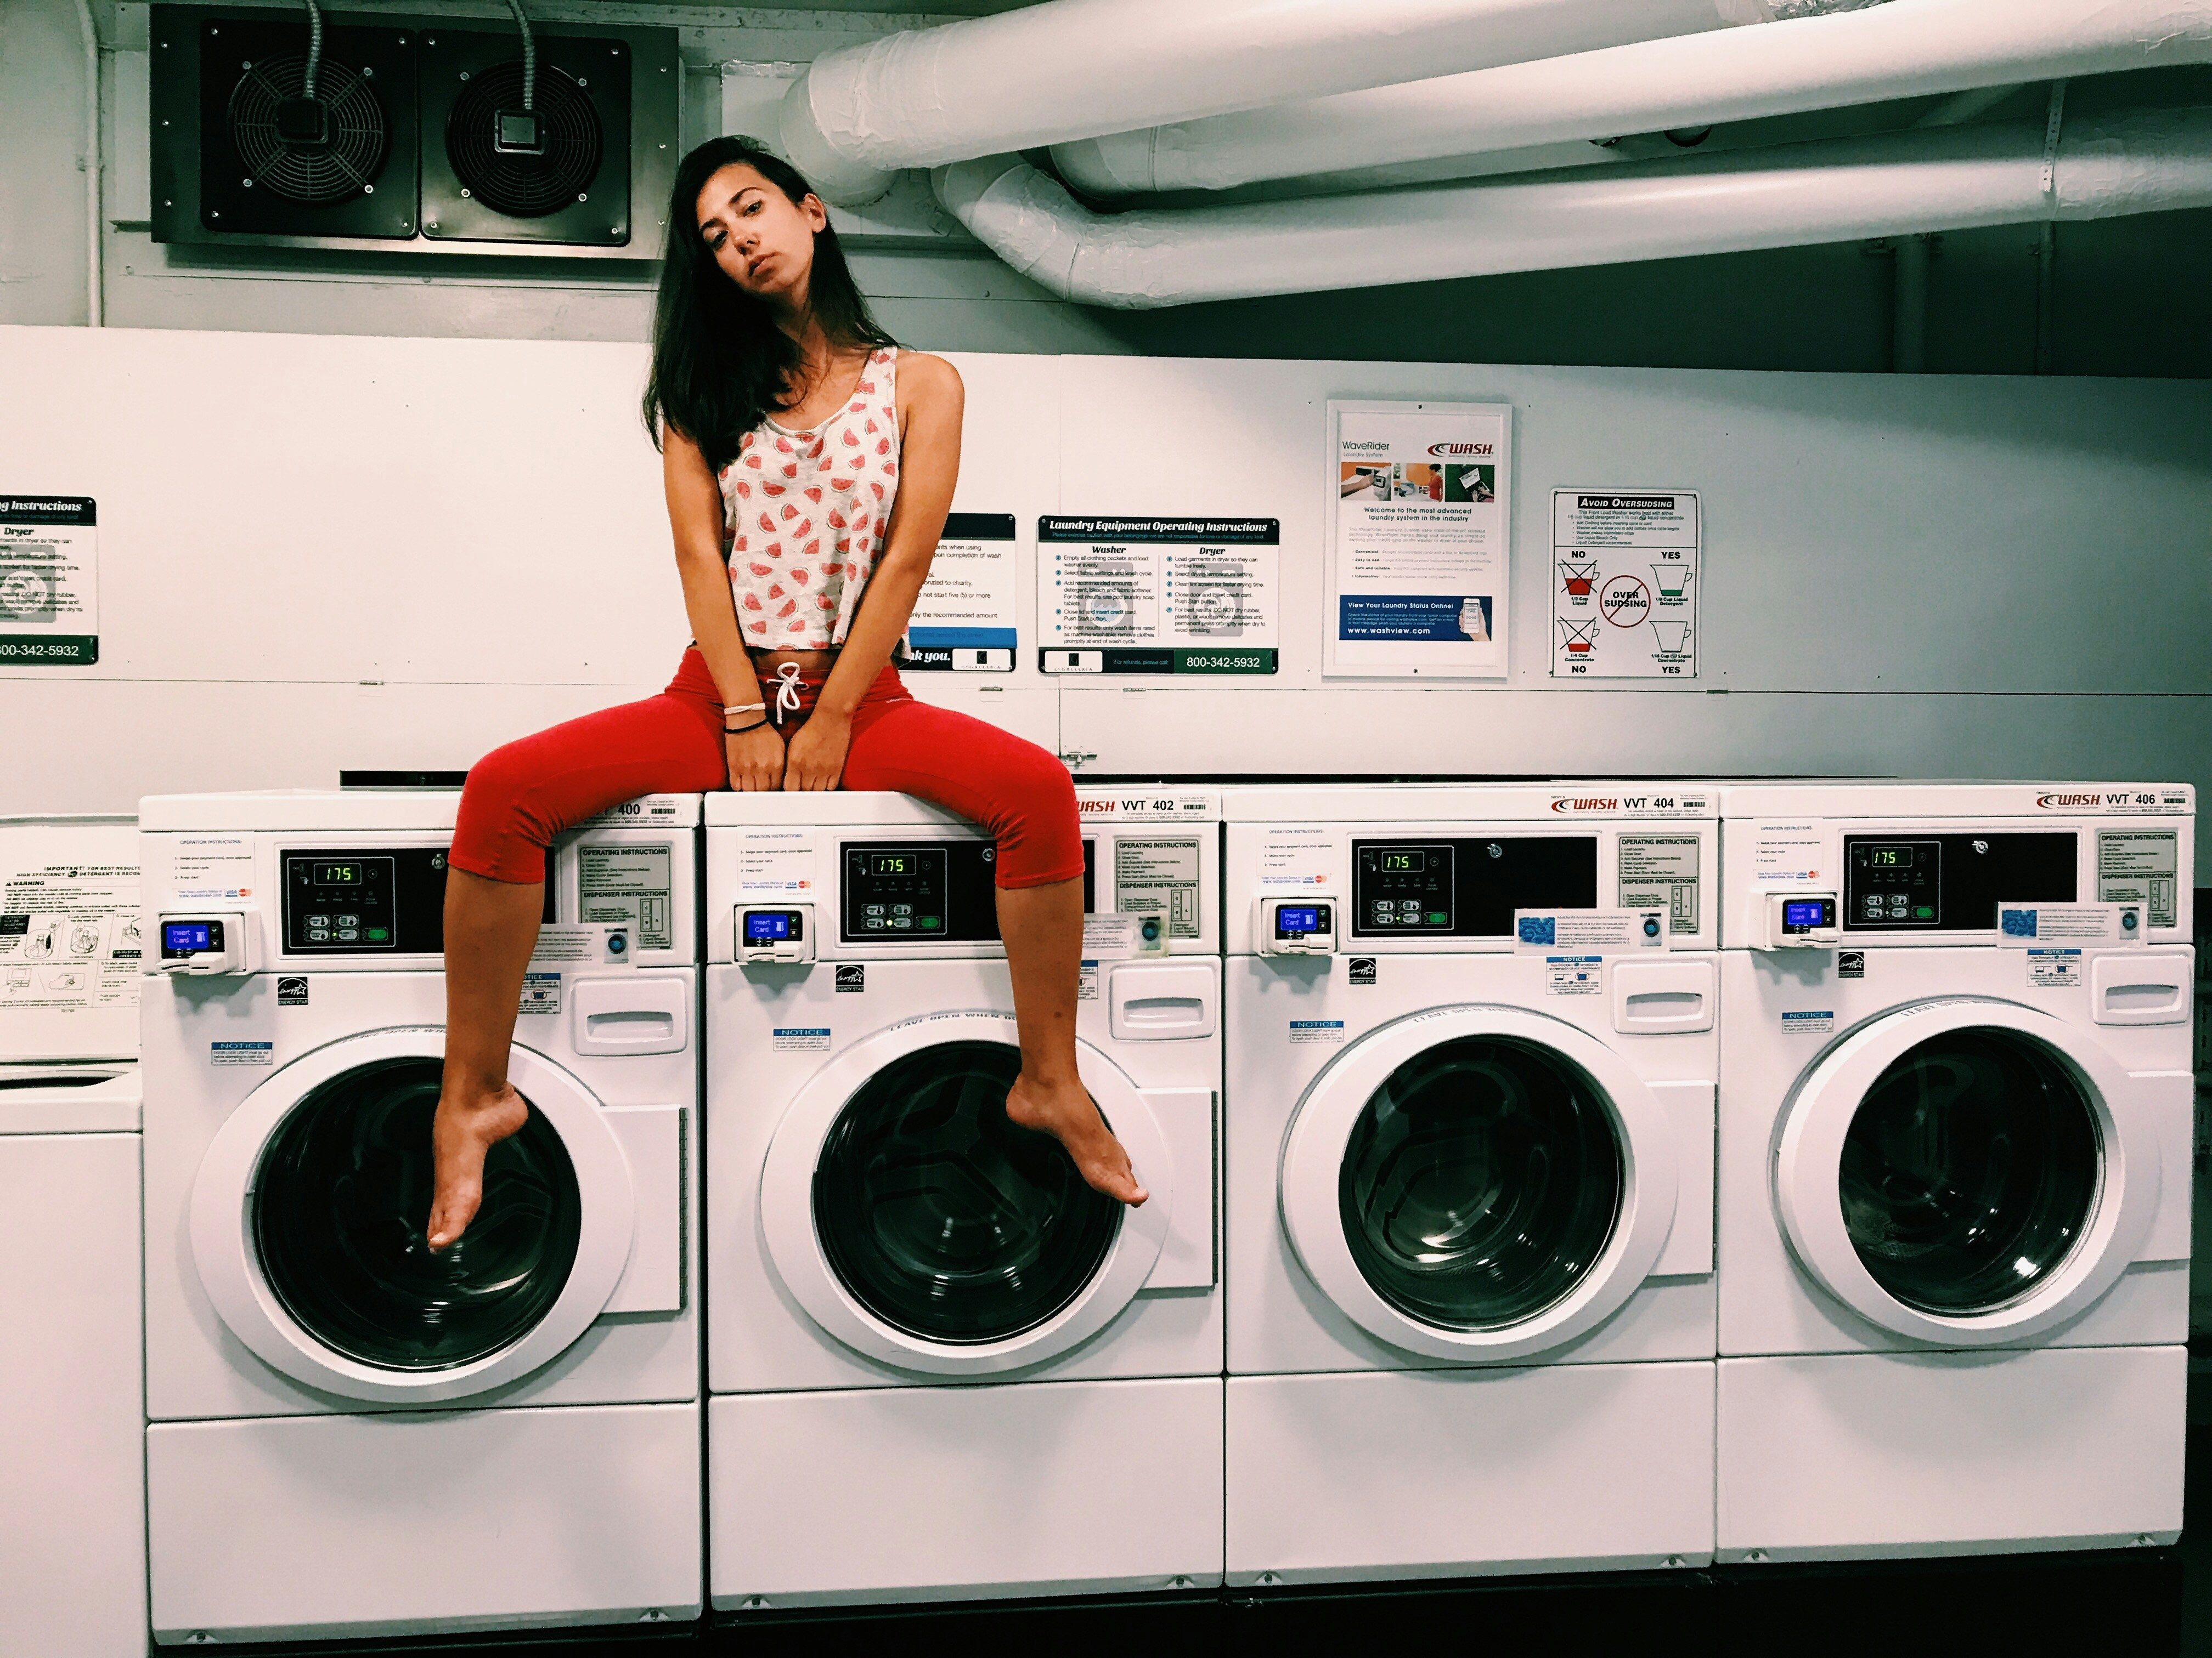
M 666 422 L 699 444 L 714 471 L 737 458 L 737 440 L 776 409 L 801 367 L 799 340 L 776 327 L 763 301 L 730 281 L 699 234 L 699 192 L 732 161 L 750 166 L 792 206 L 807 199 L 799 170 L 748 137 L 708 139 L 677 164 L 644 416 L 655 447 Z M 896 345 L 860 298 L 830 225 L 814 232 L 807 307 L 832 345 Z

